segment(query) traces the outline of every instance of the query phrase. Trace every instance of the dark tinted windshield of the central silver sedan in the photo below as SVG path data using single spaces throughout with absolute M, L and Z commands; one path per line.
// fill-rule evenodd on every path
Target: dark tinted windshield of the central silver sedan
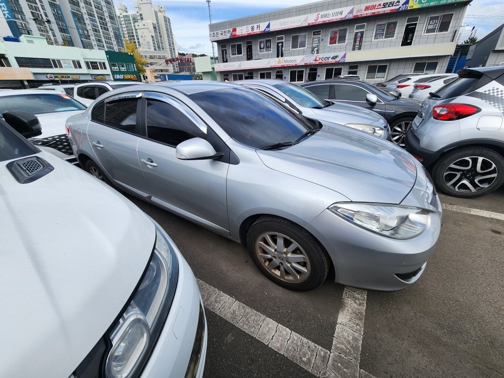
M 306 119 L 246 88 L 226 88 L 188 95 L 229 135 L 254 148 L 294 143 L 313 129 Z

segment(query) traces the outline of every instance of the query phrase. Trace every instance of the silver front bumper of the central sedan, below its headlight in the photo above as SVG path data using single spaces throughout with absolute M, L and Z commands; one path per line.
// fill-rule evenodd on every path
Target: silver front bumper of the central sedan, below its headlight
M 440 209 L 437 196 L 435 201 Z M 440 210 L 431 211 L 427 227 L 420 235 L 399 240 L 368 231 L 325 210 L 306 229 L 328 251 L 336 282 L 393 291 L 404 289 L 420 278 L 434 252 L 441 223 Z

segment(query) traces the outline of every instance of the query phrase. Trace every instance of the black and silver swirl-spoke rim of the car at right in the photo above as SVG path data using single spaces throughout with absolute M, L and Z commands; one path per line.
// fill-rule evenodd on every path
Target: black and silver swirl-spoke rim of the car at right
M 443 179 L 448 187 L 461 193 L 478 192 L 490 186 L 498 175 L 497 166 L 481 156 L 469 156 L 450 164 Z

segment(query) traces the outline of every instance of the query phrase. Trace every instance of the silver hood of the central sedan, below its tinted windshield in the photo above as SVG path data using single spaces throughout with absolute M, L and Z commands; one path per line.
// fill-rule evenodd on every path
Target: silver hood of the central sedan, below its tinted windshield
M 416 180 L 413 157 L 372 135 L 324 126 L 301 143 L 258 154 L 271 169 L 325 186 L 354 202 L 399 204 Z

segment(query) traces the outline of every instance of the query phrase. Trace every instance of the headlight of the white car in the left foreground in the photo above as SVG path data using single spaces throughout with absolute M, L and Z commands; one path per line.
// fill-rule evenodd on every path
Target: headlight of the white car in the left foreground
M 138 376 L 168 315 L 178 279 L 178 261 L 164 231 L 156 226 L 152 260 L 133 300 L 110 332 L 107 378 Z

